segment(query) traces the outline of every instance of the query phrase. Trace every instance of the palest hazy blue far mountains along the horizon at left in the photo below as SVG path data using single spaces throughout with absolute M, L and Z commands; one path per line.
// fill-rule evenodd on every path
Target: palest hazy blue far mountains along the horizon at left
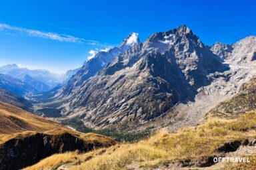
M 0 74 L 7 74 L 20 80 L 27 81 L 26 83 L 37 89 L 39 92 L 44 92 L 57 86 L 64 84 L 75 74 L 77 70 L 69 70 L 65 74 L 55 74 L 48 70 L 29 70 L 28 68 L 20 68 L 17 64 L 9 64 L 0 67 Z

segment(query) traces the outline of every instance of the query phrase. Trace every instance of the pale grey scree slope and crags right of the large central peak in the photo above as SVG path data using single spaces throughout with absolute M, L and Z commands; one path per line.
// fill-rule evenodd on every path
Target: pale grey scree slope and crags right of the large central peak
M 253 84 L 251 84 L 251 90 L 248 90 L 246 96 L 243 96 L 243 98 L 241 96 L 241 98 L 233 98 L 233 96 L 239 93 L 242 84 L 253 80 L 253 77 L 256 75 L 255 60 L 249 60 L 247 63 L 233 62 L 237 60 L 233 58 L 239 58 L 239 56 L 243 58 L 243 56 L 247 56 L 247 54 L 253 54 L 256 51 L 255 43 L 256 40 L 251 36 L 235 44 L 229 45 L 217 42 L 211 46 L 210 49 L 213 50 L 213 53 L 219 55 L 219 58 L 223 60 L 223 64 L 229 66 L 229 70 L 209 74 L 207 77 L 212 80 L 211 84 L 197 89 L 194 102 L 187 102 L 186 104 L 179 103 L 163 114 L 163 116 L 147 124 L 143 124 L 143 126 L 139 128 L 133 127 L 133 129 L 143 131 L 148 128 L 157 129 L 166 126 L 170 131 L 176 131 L 179 128 L 196 126 L 201 120 L 204 120 L 207 113 L 214 110 L 215 107 L 218 108 L 217 111 L 220 112 L 220 116 L 225 116 L 227 113 L 224 114 L 224 111 L 228 109 L 232 110 L 233 116 L 236 114 L 244 114 L 245 111 L 248 111 L 250 108 L 252 109 L 253 103 L 247 102 L 254 101 Z M 239 44 L 239 46 L 237 44 Z M 236 50 L 233 50 L 235 48 Z M 237 51 L 240 52 L 237 53 Z M 238 102 L 238 106 L 235 106 L 236 103 L 231 100 L 232 98 L 234 101 Z M 226 103 L 225 101 L 229 102 Z M 231 106 L 235 107 L 231 108 Z M 227 116 L 232 116 L 231 112 L 229 112 Z

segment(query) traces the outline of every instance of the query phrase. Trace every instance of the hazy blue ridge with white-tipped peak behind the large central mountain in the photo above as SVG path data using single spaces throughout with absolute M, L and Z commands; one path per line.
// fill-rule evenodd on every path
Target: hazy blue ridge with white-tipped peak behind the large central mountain
M 91 60 L 85 62 L 77 73 L 71 77 L 71 79 L 65 84 L 65 86 L 60 90 L 59 95 L 61 98 L 63 96 L 67 96 L 71 94 L 71 92 L 75 91 L 77 87 L 81 86 L 85 80 L 94 76 L 96 72 L 101 70 L 104 66 L 106 66 L 113 58 L 117 55 L 122 54 L 129 48 L 129 46 L 133 46 L 138 44 L 139 37 L 137 33 L 131 33 L 120 45 L 119 47 L 111 48 L 107 51 L 98 52 Z

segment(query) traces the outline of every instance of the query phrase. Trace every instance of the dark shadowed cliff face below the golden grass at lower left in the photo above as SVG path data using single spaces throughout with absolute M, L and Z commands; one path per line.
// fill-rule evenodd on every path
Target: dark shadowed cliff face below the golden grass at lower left
M 107 143 L 85 142 L 70 133 L 48 135 L 35 133 L 17 137 L 0 144 L 0 169 L 22 169 L 45 157 L 66 151 L 87 152 L 98 147 L 109 147 Z

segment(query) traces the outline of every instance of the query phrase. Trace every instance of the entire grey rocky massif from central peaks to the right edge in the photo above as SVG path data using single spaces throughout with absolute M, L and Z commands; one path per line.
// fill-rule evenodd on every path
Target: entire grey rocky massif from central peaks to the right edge
M 153 123 L 155 128 L 177 128 L 173 121 L 189 126 L 237 94 L 255 74 L 253 36 L 232 45 L 206 46 L 182 25 L 143 43 L 136 37 L 120 52 L 127 39 L 118 48 L 96 54 L 56 92 L 48 104 L 61 110 L 60 120 L 81 120 L 95 129 L 145 129 L 157 119 L 165 123 Z M 238 56 L 245 59 L 237 60 Z M 210 102 L 202 105 L 205 100 Z

